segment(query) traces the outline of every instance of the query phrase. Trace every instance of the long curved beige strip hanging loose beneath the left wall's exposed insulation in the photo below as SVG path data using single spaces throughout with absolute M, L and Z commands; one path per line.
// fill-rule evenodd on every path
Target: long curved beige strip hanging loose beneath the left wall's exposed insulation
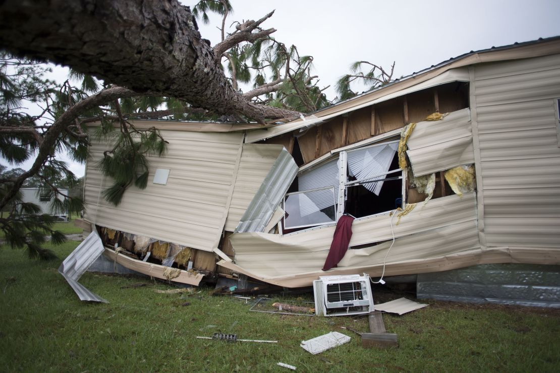
M 180 282 L 181 284 L 198 286 L 198 284 L 200 284 L 200 281 L 204 277 L 204 275 L 201 275 L 197 272 L 183 271 L 179 268 L 171 268 L 154 263 L 147 263 L 138 259 L 129 258 L 122 254 L 119 255 L 114 250 L 108 248 L 105 248 L 104 255 L 111 261 L 119 263 L 123 267 L 143 273 L 144 275 L 161 278 L 162 280 L 169 280 L 173 282 Z

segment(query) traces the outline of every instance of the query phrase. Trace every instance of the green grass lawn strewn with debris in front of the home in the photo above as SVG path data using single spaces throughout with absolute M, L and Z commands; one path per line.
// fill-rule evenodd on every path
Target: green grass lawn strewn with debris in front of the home
M 560 371 L 560 311 L 430 301 L 402 316 L 384 315 L 399 347 L 364 349 L 340 326 L 367 331 L 365 317 L 306 317 L 250 312 L 250 304 L 172 289 L 149 278 L 86 273 L 81 283 L 109 304 L 78 300 L 57 268 L 76 246 L 54 250 L 58 261 L 30 261 L 0 248 L 2 371 Z M 122 288 L 138 282 L 150 285 Z M 376 301 L 400 298 L 377 290 Z M 286 299 L 293 299 L 287 296 Z M 304 297 L 312 300 L 312 294 Z M 409 297 L 410 298 L 410 297 Z M 188 305 L 183 306 L 183 304 Z M 221 330 L 277 344 L 196 339 Z M 351 342 L 311 355 L 300 342 L 331 331 Z

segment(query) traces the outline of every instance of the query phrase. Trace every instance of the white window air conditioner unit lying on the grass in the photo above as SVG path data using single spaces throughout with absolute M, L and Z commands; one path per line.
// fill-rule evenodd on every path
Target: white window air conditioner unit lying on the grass
M 315 314 L 343 316 L 374 311 L 370 276 L 321 276 L 313 281 Z

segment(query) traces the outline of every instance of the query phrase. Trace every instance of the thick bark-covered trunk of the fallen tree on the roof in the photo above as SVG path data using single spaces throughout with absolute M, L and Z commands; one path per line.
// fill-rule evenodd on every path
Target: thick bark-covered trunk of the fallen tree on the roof
M 298 116 L 232 89 L 190 9 L 176 0 L 4 1 L 0 46 L 219 114 L 259 122 Z

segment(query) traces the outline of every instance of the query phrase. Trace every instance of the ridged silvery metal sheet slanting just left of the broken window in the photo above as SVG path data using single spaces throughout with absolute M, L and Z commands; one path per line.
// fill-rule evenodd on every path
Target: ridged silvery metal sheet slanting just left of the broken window
M 286 149 L 282 149 L 245 214 L 241 216 L 235 232 L 263 232 L 296 177 L 298 169 L 292 155 Z

